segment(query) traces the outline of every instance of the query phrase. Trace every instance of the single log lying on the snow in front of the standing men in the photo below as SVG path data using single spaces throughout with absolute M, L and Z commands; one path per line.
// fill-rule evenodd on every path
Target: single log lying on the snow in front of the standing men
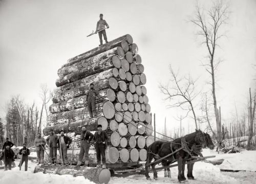
M 57 166 L 36 166 L 34 169 L 34 173 L 49 173 L 49 174 L 57 174 L 57 175 L 66 175 L 70 174 L 73 176 L 83 176 L 86 179 L 89 179 L 95 183 L 109 183 L 111 178 L 111 173 L 109 169 L 95 168 L 95 167 L 87 167 L 84 169 L 83 167 L 75 168 L 75 166 L 66 166 L 62 167 L 61 165 Z M 40 181 L 37 181 L 40 183 Z

